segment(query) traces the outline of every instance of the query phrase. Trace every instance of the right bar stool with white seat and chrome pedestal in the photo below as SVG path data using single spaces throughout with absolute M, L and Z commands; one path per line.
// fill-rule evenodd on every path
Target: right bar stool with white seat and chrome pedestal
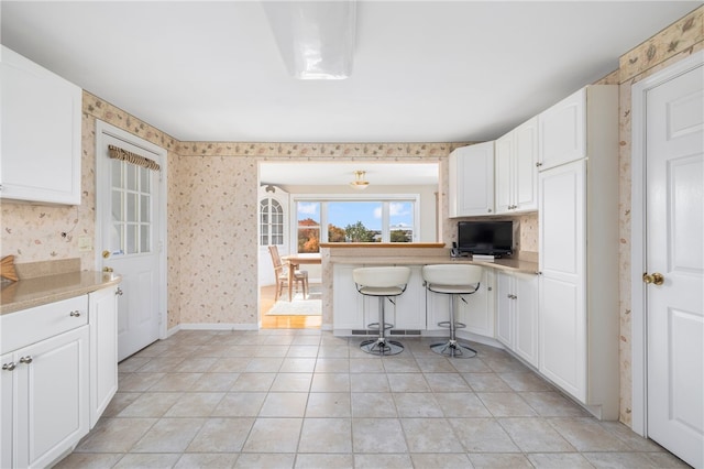
M 438 323 L 440 327 L 450 328 L 450 338 L 446 342 L 431 345 L 430 349 L 446 357 L 476 357 L 476 350 L 463 346 L 457 340 L 455 330 L 464 328 L 466 325 L 455 320 L 454 312 L 458 297 L 465 302 L 461 295 L 471 295 L 480 290 L 482 268 L 471 264 L 425 265 L 422 279 L 429 292 L 450 295 L 450 320 Z

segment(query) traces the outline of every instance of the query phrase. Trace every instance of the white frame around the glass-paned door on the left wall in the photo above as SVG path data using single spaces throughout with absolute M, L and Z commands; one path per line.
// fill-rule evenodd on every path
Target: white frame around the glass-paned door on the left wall
M 166 273 L 166 259 L 168 258 L 167 250 L 167 238 L 166 238 L 166 195 L 168 187 L 168 159 L 166 157 L 167 151 L 154 143 L 150 143 L 141 137 L 134 135 L 130 132 L 127 132 L 122 129 L 118 129 L 114 126 L 111 126 L 107 122 L 103 122 L 99 119 L 96 119 L 96 182 L 101 181 L 100 176 L 105 174 L 106 168 L 106 159 L 99 157 L 102 135 L 108 134 L 112 135 L 117 139 L 124 140 L 130 142 L 135 146 L 141 146 L 152 153 L 158 155 L 158 164 L 162 167 L 161 171 L 161 182 L 158 184 L 158 197 L 160 197 L 160 207 L 158 207 L 158 269 L 160 269 L 160 279 L 158 279 L 158 315 L 160 315 L 160 338 L 165 339 L 167 337 L 167 327 L 168 327 L 168 317 L 167 317 L 167 273 Z M 97 271 L 101 270 L 102 265 L 102 253 L 99 247 L 105 246 L 102 243 L 102 216 L 103 214 L 103 190 L 98 188 L 98 184 L 96 184 L 96 240 L 94 243 L 94 251 L 96 255 L 95 260 L 95 269 Z

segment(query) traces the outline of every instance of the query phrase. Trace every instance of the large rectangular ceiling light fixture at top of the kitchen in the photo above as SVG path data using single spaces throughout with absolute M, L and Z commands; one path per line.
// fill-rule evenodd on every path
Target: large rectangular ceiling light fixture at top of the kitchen
M 288 73 L 298 79 L 344 79 L 352 73 L 355 0 L 263 1 Z

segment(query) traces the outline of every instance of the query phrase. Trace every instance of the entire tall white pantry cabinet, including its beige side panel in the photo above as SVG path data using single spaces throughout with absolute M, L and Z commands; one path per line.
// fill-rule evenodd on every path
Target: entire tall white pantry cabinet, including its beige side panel
M 539 371 L 618 418 L 618 88 L 539 116 Z

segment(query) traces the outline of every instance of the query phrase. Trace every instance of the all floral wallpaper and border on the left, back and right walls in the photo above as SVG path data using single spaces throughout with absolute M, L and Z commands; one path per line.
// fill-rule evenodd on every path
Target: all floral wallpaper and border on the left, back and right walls
M 703 48 L 704 7 L 620 57 L 619 69 L 600 83 L 620 90 L 619 291 L 620 419 L 630 424 L 630 87 L 650 74 Z M 18 263 L 79 258 L 94 266 L 94 250 L 81 252 L 78 238 L 95 238 L 95 121 L 109 122 L 168 151 L 168 328 L 178 325 L 256 327 L 256 164 L 257 161 L 374 159 L 440 161 L 466 143 L 212 143 L 178 142 L 128 112 L 84 91 L 82 203 L 78 207 L 0 203 L 0 255 Z M 442 232 L 451 241 L 447 218 L 447 177 Z M 537 217 L 519 217 L 520 243 L 537 251 Z M 450 237 L 450 238 L 449 238 Z

